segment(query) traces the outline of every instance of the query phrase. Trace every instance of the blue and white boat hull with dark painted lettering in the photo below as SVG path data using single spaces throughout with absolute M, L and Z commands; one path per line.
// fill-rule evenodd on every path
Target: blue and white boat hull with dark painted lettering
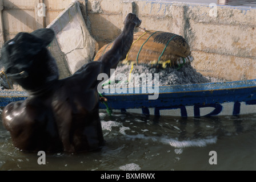
M 135 89 L 135 88 L 134 88 Z M 149 100 L 150 93 L 105 93 L 105 104 L 114 112 L 181 117 L 208 117 L 213 115 L 242 115 L 256 113 L 256 79 L 245 81 L 210 82 L 159 86 L 159 96 Z M 25 100 L 27 92 L 0 92 L 0 106 Z

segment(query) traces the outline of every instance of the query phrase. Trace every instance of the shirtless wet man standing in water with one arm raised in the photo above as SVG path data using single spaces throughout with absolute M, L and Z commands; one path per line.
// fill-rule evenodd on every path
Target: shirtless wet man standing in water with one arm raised
M 124 24 L 110 51 L 62 80 L 58 79 L 57 65 L 46 43 L 41 45 L 38 41 L 36 46 L 28 45 L 35 49 L 36 55 L 20 56 L 22 52 L 17 51 L 16 55 L 23 57 L 22 60 L 13 59 L 11 52 L 18 49 L 19 40 L 25 35 L 14 38 L 14 43 L 6 43 L 4 50 L 9 53 L 3 52 L 1 61 L 6 65 L 7 75 L 29 93 L 25 101 L 12 102 L 3 109 L 3 125 L 10 131 L 15 147 L 23 151 L 82 152 L 103 146 L 97 92 L 101 80 L 97 77 L 99 73 L 110 76 L 110 69 L 125 58 L 133 43 L 134 28 L 141 20 L 128 14 Z M 53 34 L 50 31 L 49 34 Z M 35 35 L 41 33 L 38 31 Z

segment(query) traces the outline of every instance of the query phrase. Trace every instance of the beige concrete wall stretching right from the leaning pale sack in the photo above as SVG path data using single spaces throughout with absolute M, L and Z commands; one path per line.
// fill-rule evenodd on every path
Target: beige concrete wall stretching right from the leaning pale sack
M 217 10 L 213 16 L 213 9 Z M 173 32 L 189 43 L 192 63 L 205 76 L 256 78 L 256 9 L 165 1 L 89 0 L 87 26 L 99 47 L 113 41 L 127 13 L 147 30 Z

